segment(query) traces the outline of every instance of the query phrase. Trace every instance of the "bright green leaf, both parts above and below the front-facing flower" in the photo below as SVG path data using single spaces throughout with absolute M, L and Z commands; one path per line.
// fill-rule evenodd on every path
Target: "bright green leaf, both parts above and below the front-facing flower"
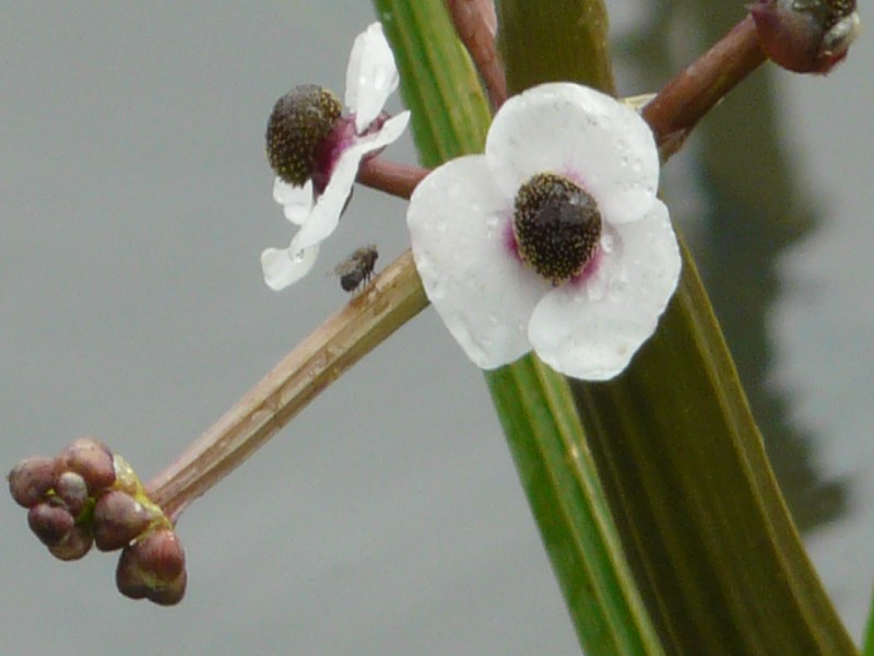
M 441 0 L 375 0 L 423 162 L 481 152 L 488 112 Z M 567 382 L 534 358 L 488 374 L 522 485 L 587 654 L 661 654 Z

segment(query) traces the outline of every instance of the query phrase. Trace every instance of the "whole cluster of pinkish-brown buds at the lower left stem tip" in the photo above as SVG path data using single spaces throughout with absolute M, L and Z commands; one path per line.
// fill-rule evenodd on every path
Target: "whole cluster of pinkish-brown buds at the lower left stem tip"
M 181 600 L 185 551 L 173 525 L 105 444 L 75 440 L 55 458 L 22 460 L 8 480 L 12 499 L 27 508 L 31 530 L 52 555 L 78 560 L 92 544 L 121 549 L 116 585 L 122 595 L 165 606 Z

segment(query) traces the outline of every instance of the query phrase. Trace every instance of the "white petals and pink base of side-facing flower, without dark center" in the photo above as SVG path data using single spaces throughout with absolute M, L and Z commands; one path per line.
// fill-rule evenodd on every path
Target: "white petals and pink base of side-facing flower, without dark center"
M 319 243 L 336 229 L 362 160 L 397 140 L 406 128 L 409 112 L 391 118 L 382 113 L 398 82 L 398 68 L 382 25 L 374 23 L 352 47 L 345 95 L 350 115 L 340 118 L 319 144 L 320 153 L 327 156 L 318 159 L 317 171 L 303 186 L 279 176 L 273 184 L 273 198 L 283 206 L 285 218 L 300 230 L 287 248 L 267 248 L 261 254 L 264 282 L 271 289 L 282 290 L 309 272 Z

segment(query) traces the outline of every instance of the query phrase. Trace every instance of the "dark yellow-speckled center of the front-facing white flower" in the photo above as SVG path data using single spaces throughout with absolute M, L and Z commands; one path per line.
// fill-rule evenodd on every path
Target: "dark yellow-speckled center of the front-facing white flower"
M 522 261 L 558 285 L 582 273 L 594 257 L 601 213 L 579 185 L 539 173 L 516 195 L 512 232 Z

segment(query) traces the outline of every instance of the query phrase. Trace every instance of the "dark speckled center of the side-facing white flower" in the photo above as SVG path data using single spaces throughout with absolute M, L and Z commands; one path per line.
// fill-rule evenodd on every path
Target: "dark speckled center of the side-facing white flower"
M 277 176 L 298 187 L 312 177 L 342 109 L 334 94 L 315 84 L 295 86 L 276 101 L 267 124 L 267 156 Z

